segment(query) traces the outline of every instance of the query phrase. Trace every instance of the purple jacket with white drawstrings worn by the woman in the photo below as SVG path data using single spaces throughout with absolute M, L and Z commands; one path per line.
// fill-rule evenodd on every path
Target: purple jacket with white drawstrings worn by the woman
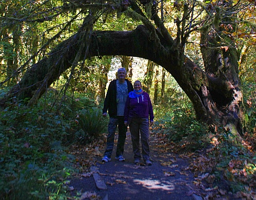
M 147 92 L 143 92 L 137 98 L 127 97 L 125 105 L 124 120 L 128 121 L 128 117 L 150 118 L 153 121 L 153 107 Z

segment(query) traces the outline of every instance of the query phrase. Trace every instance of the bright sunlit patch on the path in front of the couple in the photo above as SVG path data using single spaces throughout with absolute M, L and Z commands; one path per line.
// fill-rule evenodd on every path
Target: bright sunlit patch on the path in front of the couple
M 174 184 L 168 181 L 149 180 L 149 179 L 134 179 L 135 184 L 142 185 L 147 189 L 161 189 L 161 190 L 174 190 Z

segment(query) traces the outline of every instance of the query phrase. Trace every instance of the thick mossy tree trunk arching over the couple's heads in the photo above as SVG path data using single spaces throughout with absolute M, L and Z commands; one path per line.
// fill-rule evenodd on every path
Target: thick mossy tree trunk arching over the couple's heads
M 240 117 L 242 104 L 242 99 L 237 97 L 240 95 L 240 82 L 235 75 L 237 71 L 227 71 L 228 78 L 235 77 L 232 82 L 223 73 L 212 77 L 184 56 L 171 37 L 163 37 L 162 34 L 155 37 L 151 31 L 144 25 L 133 31 L 94 31 L 90 44 L 84 44 L 86 41 L 79 39 L 84 38 L 81 36 L 83 32 L 77 33 L 33 65 L 21 82 L 1 99 L 0 104 L 3 105 L 14 95 L 21 98 L 31 98 L 38 93 L 42 95 L 53 81 L 71 67 L 77 50 L 83 44 L 83 51 L 88 48 L 90 56 L 127 55 L 149 59 L 164 67 L 175 78 L 191 100 L 198 119 L 207 122 L 217 122 L 221 119 L 224 125 L 237 122 L 235 126 L 240 127 L 241 122 L 236 119 Z M 235 59 L 234 55 L 228 53 L 225 52 L 229 56 L 228 62 L 235 63 L 237 60 L 232 60 Z M 216 59 L 217 56 L 214 57 Z

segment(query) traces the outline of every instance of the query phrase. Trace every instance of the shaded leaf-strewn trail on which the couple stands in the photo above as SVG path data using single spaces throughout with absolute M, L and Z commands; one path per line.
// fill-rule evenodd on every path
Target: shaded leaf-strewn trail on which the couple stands
M 150 136 L 150 154 L 152 166 L 146 166 L 141 160 L 140 166 L 133 164 L 133 152 L 130 132 L 127 132 L 125 144 L 125 162 L 114 159 L 102 163 L 102 156 L 96 156 L 93 175 L 82 179 L 73 179 L 70 183 L 76 191 L 84 194 L 82 199 L 202 199 L 194 188 L 193 173 L 187 170 L 189 163 L 179 155 L 168 153 L 159 139 Z M 105 149 L 100 149 L 103 155 Z M 96 179 L 95 179 L 96 178 Z M 95 181 L 100 181 L 96 187 Z M 104 189 L 104 186 L 106 187 Z

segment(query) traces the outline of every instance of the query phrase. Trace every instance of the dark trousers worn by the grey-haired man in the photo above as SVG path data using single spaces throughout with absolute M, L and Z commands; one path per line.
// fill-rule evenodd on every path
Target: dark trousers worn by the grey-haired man
M 117 125 L 119 134 L 116 147 L 116 156 L 124 154 L 124 145 L 127 132 L 127 127 L 124 124 L 124 116 L 117 116 L 117 118 L 110 117 L 108 124 L 107 148 L 104 153 L 104 156 L 108 156 L 109 158 L 111 158 L 114 147 L 114 136 Z

